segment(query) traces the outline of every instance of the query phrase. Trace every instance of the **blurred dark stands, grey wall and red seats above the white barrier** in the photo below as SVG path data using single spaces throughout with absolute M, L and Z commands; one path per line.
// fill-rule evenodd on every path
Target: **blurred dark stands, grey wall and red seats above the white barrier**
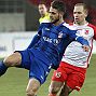
M 45 2 L 50 6 L 53 0 L 0 0 L 0 31 L 33 31 L 38 29 L 40 14 L 38 4 Z M 96 1 L 95 0 L 64 0 L 67 6 L 66 22 L 72 22 L 73 5 L 85 2 L 90 9 L 88 20 L 96 25 Z

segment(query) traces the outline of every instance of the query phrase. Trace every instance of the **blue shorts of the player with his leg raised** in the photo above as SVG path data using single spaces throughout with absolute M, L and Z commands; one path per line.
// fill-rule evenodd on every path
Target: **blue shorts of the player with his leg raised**
M 20 68 L 29 70 L 29 78 L 36 78 L 40 83 L 44 83 L 46 77 L 51 70 L 51 61 L 46 59 L 43 54 L 33 50 L 33 51 L 16 51 L 22 54 L 22 64 Z M 39 54 L 40 53 L 40 54 Z

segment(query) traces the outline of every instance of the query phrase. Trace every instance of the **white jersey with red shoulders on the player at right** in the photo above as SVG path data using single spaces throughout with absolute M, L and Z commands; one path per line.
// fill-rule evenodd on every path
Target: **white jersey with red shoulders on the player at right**
M 90 43 L 91 50 L 88 52 L 83 51 L 82 44 L 72 41 L 66 49 L 61 61 L 66 61 L 70 65 L 87 68 L 93 50 L 93 39 L 96 40 L 96 27 L 92 24 L 85 24 L 78 26 L 76 24 L 64 24 L 69 29 L 77 29 L 78 35 L 86 39 Z

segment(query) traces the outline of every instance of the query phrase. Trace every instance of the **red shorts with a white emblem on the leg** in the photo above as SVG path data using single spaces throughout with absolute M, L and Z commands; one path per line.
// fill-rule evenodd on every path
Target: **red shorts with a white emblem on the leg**
M 61 61 L 57 70 L 54 71 L 52 80 L 58 82 L 66 81 L 70 88 L 80 91 L 85 80 L 85 68 L 74 67 Z

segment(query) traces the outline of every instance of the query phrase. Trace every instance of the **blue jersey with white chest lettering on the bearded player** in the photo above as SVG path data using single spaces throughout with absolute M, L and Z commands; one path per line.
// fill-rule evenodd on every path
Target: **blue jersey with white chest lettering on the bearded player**
M 38 31 L 38 39 L 33 41 L 35 44 L 32 45 L 33 49 L 42 51 L 43 55 L 51 60 L 53 66 L 58 66 L 67 45 L 78 38 L 76 35 L 77 30 L 70 30 L 63 24 L 58 26 L 54 26 L 51 23 L 41 24 Z M 81 39 L 78 41 L 83 42 Z M 31 45 L 29 47 L 31 51 Z M 39 59 L 43 58 L 39 57 Z

